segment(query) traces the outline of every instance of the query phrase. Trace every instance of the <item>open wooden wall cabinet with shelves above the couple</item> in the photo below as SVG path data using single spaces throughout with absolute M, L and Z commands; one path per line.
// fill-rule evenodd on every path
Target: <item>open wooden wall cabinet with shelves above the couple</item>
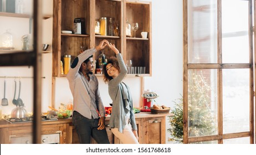
M 115 18 L 118 24 L 119 35 L 95 34 L 95 20 L 101 17 Z M 73 30 L 74 19 L 81 18 L 82 34 L 63 34 L 62 30 Z M 136 38 L 126 37 L 126 19 L 132 24 L 139 23 Z M 63 56 L 71 55 L 71 61 L 83 49 L 93 48 L 103 39 L 109 40 L 120 50 L 124 60 L 132 60 L 132 66 L 145 66 L 145 74 L 132 74 L 129 76 L 151 76 L 151 2 L 134 0 L 54 0 L 53 1 L 53 77 L 65 77 L 61 74 L 60 61 Z M 84 32 L 84 33 L 83 33 Z M 142 38 L 141 32 L 149 32 L 147 38 Z M 101 52 L 94 54 L 97 61 Z M 104 49 L 109 58 L 114 52 Z M 96 67 L 100 66 L 96 63 Z M 100 75 L 97 75 L 100 76 Z

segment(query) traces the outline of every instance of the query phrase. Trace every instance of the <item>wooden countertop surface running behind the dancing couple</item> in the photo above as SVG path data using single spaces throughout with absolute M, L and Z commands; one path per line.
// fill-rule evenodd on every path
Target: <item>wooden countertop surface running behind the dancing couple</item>
M 173 116 L 173 113 L 166 114 L 151 114 L 150 112 L 140 112 L 135 113 L 135 118 L 151 118 L 151 117 L 163 117 L 163 116 Z M 106 117 L 106 121 L 110 119 L 110 116 Z M 59 123 L 71 123 L 70 118 L 58 118 L 55 121 L 42 121 L 42 125 L 50 125 L 50 124 L 59 124 Z M 6 120 L 0 120 L 0 128 L 6 127 L 22 127 L 22 126 L 32 126 L 32 122 L 22 122 L 22 123 L 9 123 Z

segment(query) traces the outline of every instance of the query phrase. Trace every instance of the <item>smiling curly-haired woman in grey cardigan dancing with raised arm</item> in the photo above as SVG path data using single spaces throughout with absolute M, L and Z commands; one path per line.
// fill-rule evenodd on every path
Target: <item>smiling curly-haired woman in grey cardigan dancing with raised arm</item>
M 127 74 L 127 69 L 122 55 L 115 45 L 109 43 L 116 58 L 112 57 L 104 65 L 104 82 L 109 85 L 109 95 L 112 99 L 112 112 L 110 117 L 110 129 L 123 144 L 138 144 L 137 126 L 132 106 L 132 98 L 129 87 L 122 82 Z

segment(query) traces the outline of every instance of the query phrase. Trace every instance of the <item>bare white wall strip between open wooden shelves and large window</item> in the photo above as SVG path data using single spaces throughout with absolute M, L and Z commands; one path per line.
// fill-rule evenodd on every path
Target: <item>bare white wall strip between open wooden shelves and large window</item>
M 174 105 L 182 95 L 183 1 L 152 0 L 152 77 L 145 78 L 145 89 L 152 89 L 160 105 Z M 166 118 L 166 130 L 170 128 Z M 166 131 L 166 143 L 170 133 Z

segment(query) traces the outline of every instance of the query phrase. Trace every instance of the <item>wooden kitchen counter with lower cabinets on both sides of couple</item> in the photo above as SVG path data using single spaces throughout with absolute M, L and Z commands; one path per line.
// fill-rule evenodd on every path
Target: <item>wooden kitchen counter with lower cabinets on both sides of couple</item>
M 136 125 L 138 127 L 140 143 L 165 143 L 166 139 L 166 116 L 173 116 L 173 113 L 151 114 L 150 112 L 135 113 Z M 106 129 L 110 116 L 106 117 Z M 0 120 L 0 143 L 27 143 L 31 142 L 33 135 L 32 122 L 10 123 Z M 41 133 L 44 137 L 58 135 L 57 143 L 79 143 L 75 127 L 72 125 L 72 118 L 59 118 L 58 120 L 42 121 Z M 107 130 L 110 143 L 120 143 L 110 130 Z M 152 136 L 153 135 L 153 136 Z M 26 140 L 24 140 L 26 139 Z M 28 139 L 28 140 L 27 140 Z M 42 138 L 43 139 L 43 138 Z M 49 138 L 52 139 L 52 138 Z M 43 139 L 45 140 L 45 139 Z M 48 141 L 42 143 L 47 143 Z M 91 143 L 95 143 L 92 140 Z

